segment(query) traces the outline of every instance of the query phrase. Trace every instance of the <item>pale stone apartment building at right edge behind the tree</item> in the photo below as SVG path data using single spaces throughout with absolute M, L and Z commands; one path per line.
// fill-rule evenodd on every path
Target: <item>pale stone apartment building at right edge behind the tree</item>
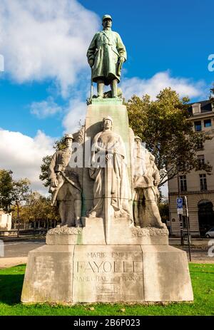
M 214 107 L 210 100 L 190 105 L 193 129 L 204 131 L 214 136 Z M 211 175 L 204 170 L 197 170 L 183 175 L 179 173 L 180 197 L 188 198 L 190 232 L 192 236 L 203 237 L 205 232 L 214 227 L 214 138 L 206 140 L 198 148 L 198 163 L 209 162 L 213 166 Z M 172 235 L 180 236 L 180 222 L 177 214 L 176 198 L 178 197 L 178 177 L 168 182 L 170 220 L 168 227 Z M 187 222 L 185 207 L 183 208 L 183 228 Z

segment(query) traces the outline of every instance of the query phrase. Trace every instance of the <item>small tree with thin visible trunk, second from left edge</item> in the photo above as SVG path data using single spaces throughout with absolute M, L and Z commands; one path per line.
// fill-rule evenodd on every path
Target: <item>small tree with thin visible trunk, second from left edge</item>
M 29 184 L 30 184 L 30 181 L 27 178 L 12 181 L 13 188 L 11 190 L 11 201 L 14 203 L 14 205 L 16 205 L 16 209 L 17 209 L 17 220 L 18 220 L 17 236 L 18 237 L 19 237 L 19 230 L 20 230 L 19 211 L 20 211 L 22 202 L 26 201 L 28 198 Z

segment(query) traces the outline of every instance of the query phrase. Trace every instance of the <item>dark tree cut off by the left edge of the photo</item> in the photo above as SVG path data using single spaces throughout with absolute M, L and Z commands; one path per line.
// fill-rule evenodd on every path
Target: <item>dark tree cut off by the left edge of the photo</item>
M 12 173 L 11 170 L 0 170 L 0 208 L 8 213 L 11 212 Z

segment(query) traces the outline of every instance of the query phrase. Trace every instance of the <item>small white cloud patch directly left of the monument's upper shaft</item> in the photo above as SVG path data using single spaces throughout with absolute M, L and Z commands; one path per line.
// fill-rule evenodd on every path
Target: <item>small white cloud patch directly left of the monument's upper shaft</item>
M 86 102 L 81 100 L 71 100 L 66 110 L 66 116 L 63 118 L 63 127 L 65 133 L 75 133 L 86 119 Z

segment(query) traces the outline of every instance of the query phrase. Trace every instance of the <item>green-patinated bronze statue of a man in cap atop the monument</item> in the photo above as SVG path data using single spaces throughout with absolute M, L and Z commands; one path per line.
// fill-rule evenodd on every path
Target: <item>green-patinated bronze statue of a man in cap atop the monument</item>
M 117 85 L 121 78 L 121 67 L 126 61 L 126 48 L 121 36 L 111 31 L 110 15 L 103 16 L 103 31 L 98 31 L 87 51 L 91 66 L 92 81 L 97 83 L 98 98 L 103 98 L 104 85 L 111 85 L 111 97 L 117 98 Z

